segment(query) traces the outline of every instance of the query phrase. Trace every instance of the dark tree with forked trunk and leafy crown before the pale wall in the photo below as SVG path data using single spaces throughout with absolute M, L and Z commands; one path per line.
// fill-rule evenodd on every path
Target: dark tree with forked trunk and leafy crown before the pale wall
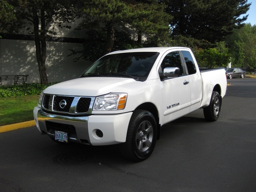
M 74 1 L 73 1 L 74 2 Z M 74 4 L 68 0 L 10 0 L 15 7 L 17 22 L 14 30 L 27 27 L 29 34 L 34 36 L 36 45 L 36 59 L 40 73 L 41 84 L 47 84 L 46 74 L 46 36 L 54 33 L 54 24 L 60 27 L 74 19 Z

